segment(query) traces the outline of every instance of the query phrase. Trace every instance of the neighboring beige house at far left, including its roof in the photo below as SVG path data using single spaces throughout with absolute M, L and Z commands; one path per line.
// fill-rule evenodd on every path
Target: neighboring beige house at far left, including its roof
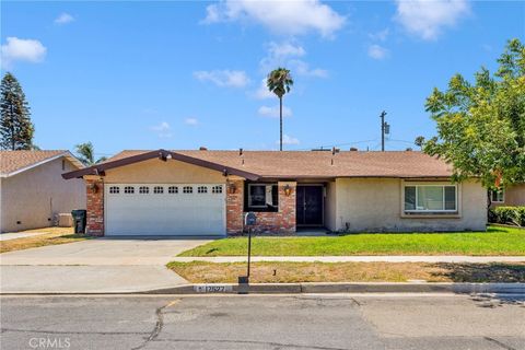
M 85 209 L 83 165 L 69 151 L 0 151 L 0 232 L 49 226 L 54 215 Z

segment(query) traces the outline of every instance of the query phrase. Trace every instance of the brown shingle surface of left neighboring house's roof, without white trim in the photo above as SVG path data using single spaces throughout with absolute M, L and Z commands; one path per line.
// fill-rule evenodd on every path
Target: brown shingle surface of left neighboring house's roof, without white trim
M 0 151 L 0 175 L 7 175 L 27 166 L 66 154 L 65 150 L 52 151 Z

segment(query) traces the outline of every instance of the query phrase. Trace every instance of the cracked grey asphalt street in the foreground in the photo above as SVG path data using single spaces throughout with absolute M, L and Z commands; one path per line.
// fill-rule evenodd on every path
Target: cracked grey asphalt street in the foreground
M 1 349 L 525 350 L 525 296 L 2 296 Z

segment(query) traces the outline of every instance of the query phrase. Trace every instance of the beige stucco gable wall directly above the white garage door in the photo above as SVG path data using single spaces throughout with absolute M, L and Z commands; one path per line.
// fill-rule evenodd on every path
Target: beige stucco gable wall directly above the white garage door
M 205 151 L 203 151 L 205 152 Z M 106 171 L 106 184 L 225 184 L 221 172 L 179 161 L 148 160 Z

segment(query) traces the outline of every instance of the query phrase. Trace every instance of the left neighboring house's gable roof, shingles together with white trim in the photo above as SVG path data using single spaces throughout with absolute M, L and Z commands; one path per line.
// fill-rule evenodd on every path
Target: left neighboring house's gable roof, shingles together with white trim
M 61 156 L 67 158 L 78 168 L 83 167 L 82 163 L 71 152 L 66 150 L 0 151 L 0 177 L 20 174 Z

